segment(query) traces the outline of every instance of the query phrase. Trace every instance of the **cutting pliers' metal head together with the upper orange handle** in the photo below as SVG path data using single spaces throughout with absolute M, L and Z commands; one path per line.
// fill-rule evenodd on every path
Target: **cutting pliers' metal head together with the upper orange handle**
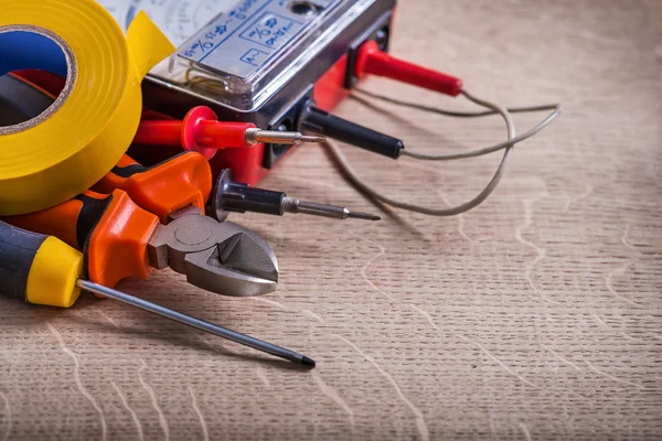
M 228 295 L 260 295 L 276 290 L 278 261 L 259 235 L 234 223 L 205 217 L 212 171 L 199 153 L 184 152 L 152 168 L 124 155 L 95 186 L 99 193 L 124 190 L 161 226 L 148 244 L 154 268 L 170 266 L 190 283 Z M 218 190 L 214 190 L 214 193 Z

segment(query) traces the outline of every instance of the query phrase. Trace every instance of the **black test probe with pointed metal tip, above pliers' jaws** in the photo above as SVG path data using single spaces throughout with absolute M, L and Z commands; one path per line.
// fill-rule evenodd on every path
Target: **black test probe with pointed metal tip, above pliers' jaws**
M 232 171 L 225 169 L 218 175 L 207 213 L 216 220 L 223 222 L 231 212 L 255 212 L 276 216 L 282 216 L 285 213 L 301 213 L 337 219 L 382 219 L 380 216 L 370 213 L 351 212 L 345 207 L 288 197 L 284 192 L 254 189 L 248 184 L 234 182 Z

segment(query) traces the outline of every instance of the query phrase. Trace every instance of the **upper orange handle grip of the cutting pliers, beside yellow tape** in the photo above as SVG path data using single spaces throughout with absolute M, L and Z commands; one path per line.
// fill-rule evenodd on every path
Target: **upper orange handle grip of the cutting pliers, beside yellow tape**
M 166 224 L 172 213 L 190 205 L 204 213 L 212 192 L 212 170 L 196 152 L 184 152 L 151 169 L 125 154 L 93 190 L 99 193 L 124 190 L 138 206 Z

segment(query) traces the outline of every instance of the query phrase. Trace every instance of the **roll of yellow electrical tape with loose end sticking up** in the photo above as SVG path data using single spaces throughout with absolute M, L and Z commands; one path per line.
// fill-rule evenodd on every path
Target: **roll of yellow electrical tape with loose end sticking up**
M 145 13 L 127 36 L 94 0 L 0 0 L 0 34 L 57 43 L 67 83 L 39 117 L 0 128 L 0 215 L 31 213 L 87 190 L 119 161 L 140 122 L 140 83 L 174 46 Z

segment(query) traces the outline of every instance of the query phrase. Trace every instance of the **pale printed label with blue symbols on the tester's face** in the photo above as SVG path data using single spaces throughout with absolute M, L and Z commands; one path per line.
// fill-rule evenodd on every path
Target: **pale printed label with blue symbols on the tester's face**
M 287 4 L 282 0 L 244 0 L 202 29 L 178 53 L 249 77 L 314 20 L 293 14 Z

